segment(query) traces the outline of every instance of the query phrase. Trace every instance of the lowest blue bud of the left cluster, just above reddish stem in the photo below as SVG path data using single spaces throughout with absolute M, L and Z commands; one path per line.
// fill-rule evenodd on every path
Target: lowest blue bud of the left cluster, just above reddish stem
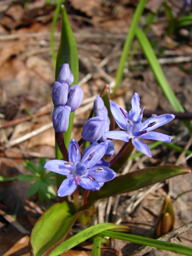
M 56 132 L 66 132 L 69 125 L 69 115 L 71 108 L 69 106 L 54 107 L 52 120 Z

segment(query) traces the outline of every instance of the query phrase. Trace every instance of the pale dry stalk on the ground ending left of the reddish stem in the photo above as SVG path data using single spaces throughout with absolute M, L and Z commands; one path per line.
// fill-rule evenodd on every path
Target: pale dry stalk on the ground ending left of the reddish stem
M 12 146 L 15 146 L 15 145 L 17 145 L 17 144 L 19 144 L 19 143 L 21 143 L 21 142 L 23 142 L 25 140 L 28 140 L 28 139 L 30 139 L 30 138 L 32 138 L 32 137 L 42 133 L 42 132 L 45 132 L 46 130 L 49 130 L 50 128 L 53 128 L 52 122 L 49 123 L 49 124 L 46 124 L 46 125 L 44 125 L 44 126 L 42 126 L 40 128 L 38 128 L 38 129 L 36 129 L 36 130 L 34 130 L 32 132 L 29 132 L 28 134 L 25 134 L 24 136 L 21 136 L 21 137 L 15 139 L 15 140 L 7 142 L 5 144 L 5 148 L 10 148 Z

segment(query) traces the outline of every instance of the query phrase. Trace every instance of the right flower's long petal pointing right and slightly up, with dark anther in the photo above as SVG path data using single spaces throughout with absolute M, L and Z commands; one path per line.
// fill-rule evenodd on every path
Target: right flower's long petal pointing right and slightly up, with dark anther
M 175 118 L 172 114 L 164 114 L 157 117 L 150 117 L 142 124 L 142 130 L 152 131 Z

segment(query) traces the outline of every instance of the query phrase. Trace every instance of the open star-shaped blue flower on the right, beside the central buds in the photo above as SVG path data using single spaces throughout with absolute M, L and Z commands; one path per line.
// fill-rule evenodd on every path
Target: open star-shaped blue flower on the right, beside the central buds
M 140 98 L 138 93 L 135 93 L 132 97 L 131 104 L 132 109 L 128 113 L 118 104 L 110 100 L 110 109 L 113 117 L 118 126 L 124 131 L 109 131 L 105 132 L 104 135 L 107 138 L 124 140 L 125 142 L 132 139 L 132 144 L 137 150 L 141 151 L 147 156 L 152 156 L 149 147 L 138 138 L 170 142 L 171 136 L 162 134 L 160 132 L 151 131 L 170 122 L 175 118 L 175 116 L 173 114 L 163 114 L 160 116 L 152 114 L 150 118 L 144 122 L 141 122 L 144 108 L 140 109 Z

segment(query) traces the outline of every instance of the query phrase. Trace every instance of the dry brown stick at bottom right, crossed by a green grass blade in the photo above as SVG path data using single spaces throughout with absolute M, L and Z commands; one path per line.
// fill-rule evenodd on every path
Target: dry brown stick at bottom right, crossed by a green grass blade
M 181 234 L 191 230 L 191 228 L 192 228 L 192 221 L 187 223 L 186 225 L 180 227 L 180 228 L 177 228 L 177 229 L 173 230 L 172 232 L 169 232 L 169 233 L 161 236 L 157 240 L 164 241 L 164 242 L 170 241 L 171 238 L 175 238 L 177 236 L 180 236 Z M 129 256 L 142 256 L 142 255 L 144 255 L 146 253 L 151 252 L 152 250 L 154 250 L 153 247 L 141 246 L 138 250 L 136 250 L 136 251 L 132 252 L 131 254 L 129 254 Z

